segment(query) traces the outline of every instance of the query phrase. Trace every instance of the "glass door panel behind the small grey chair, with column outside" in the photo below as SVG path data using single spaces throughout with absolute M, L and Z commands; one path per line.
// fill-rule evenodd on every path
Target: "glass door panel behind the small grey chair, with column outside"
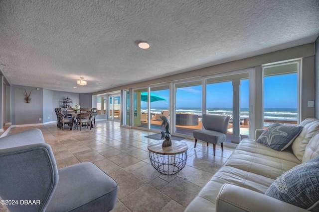
M 249 136 L 248 77 L 245 72 L 206 79 L 206 114 L 229 116 L 228 139 L 234 142 Z

